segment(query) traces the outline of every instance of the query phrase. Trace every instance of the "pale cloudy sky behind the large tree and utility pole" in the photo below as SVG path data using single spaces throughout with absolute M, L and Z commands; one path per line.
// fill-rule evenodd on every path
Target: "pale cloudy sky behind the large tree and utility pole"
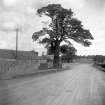
M 105 55 L 105 0 L 0 0 L 0 48 L 15 49 L 15 29 L 19 28 L 19 50 L 35 50 L 39 55 L 46 52 L 43 45 L 33 42 L 32 34 L 48 21 L 46 17 L 38 17 L 36 10 L 51 3 L 71 8 L 74 17 L 92 33 L 94 40 L 90 47 L 73 42 L 78 55 Z

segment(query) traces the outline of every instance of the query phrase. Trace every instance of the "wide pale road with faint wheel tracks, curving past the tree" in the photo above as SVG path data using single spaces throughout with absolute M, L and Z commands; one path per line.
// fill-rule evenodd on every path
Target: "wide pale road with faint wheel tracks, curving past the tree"
M 1 81 L 0 105 L 105 105 L 105 73 L 91 64 Z

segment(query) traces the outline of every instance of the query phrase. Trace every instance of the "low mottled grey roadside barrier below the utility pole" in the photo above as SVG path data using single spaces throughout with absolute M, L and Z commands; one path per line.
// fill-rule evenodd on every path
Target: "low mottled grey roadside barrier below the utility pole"
M 0 61 L 0 78 L 10 79 L 20 75 L 35 73 L 38 70 L 38 60 Z

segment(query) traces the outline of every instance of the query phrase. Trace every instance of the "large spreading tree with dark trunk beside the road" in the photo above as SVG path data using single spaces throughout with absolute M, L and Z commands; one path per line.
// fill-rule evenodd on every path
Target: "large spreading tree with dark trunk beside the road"
M 54 66 L 59 66 L 60 44 L 62 42 L 72 45 L 69 39 L 89 47 L 90 40 L 93 39 L 89 30 L 84 29 L 80 20 L 73 17 L 71 9 L 65 9 L 60 4 L 49 4 L 37 10 L 39 16 L 46 15 L 50 17 L 51 23 L 49 28 L 43 28 L 33 33 L 33 40 L 46 44 L 51 48 L 54 55 Z M 48 37 L 41 36 L 48 35 Z

